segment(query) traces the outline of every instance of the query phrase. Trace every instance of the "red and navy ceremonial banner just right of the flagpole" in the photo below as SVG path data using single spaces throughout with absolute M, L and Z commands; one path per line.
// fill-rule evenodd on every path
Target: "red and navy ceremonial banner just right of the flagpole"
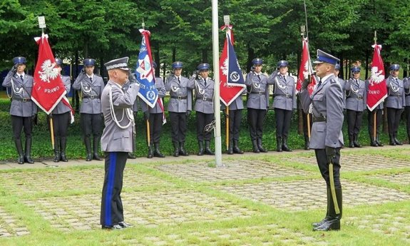
M 227 29 L 227 31 L 225 44 L 219 61 L 220 100 L 225 106 L 229 106 L 232 101 L 235 101 L 235 99 L 242 94 L 246 86 L 233 48 L 232 26 L 222 26 L 221 29 Z

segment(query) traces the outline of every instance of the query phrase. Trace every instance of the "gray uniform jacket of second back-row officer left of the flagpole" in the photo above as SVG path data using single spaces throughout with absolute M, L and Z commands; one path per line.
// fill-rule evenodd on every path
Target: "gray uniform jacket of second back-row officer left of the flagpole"
M 180 76 L 170 76 L 165 83 L 165 90 L 170 92 L 168 111 L 185 113 L 192 110 L 192 90 L 195 87 L 195 79 Z

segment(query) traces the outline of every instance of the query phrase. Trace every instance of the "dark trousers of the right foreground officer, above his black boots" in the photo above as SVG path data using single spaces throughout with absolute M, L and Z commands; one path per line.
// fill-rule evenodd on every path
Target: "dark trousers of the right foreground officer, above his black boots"
M 327 160 L 326 150 L 324 149 L 316 149 L 314 150 L 314 154 L 316 155 L 317 165 L 319 166 L 320 174 L 324 181 L 326 181 L 326 185 L 330 187 L 330 178 L 329 178 L 329 161 Z M 336 148 L 336 154 L 332 159 L 333 163 L 333 178 L 334 178 L 334 187 L 335 188 L 342 188 L 342 184 L 340 183 L 340 148 Z

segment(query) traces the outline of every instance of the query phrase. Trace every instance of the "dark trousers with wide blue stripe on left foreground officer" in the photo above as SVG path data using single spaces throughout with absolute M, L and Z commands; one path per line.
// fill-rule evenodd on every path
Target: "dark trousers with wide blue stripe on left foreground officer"
M 105 175 L 101 198 L 101 225 L 113 226 L 124 221 L 121 190 L 127 152 L 105 153 Z

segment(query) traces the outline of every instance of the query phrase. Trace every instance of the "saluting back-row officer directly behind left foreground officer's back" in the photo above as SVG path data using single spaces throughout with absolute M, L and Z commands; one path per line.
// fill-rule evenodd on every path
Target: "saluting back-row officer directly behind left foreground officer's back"
M 103 160 L 98 156 L 103 118 L 101 117 L 101 93 L 104 89 L 104 81 L 101 76 L 94 74 L 96 60 L 87 58 L 83 61 L 85 68 L 80 73 L 73 88 L 81 89 L 82 103 L 80 108 L 81 129 L 83 130 L 84 144 L 86 145 L 86 161 Z M 93 154 L 91 154 L 91 134 L 93 135 Z

